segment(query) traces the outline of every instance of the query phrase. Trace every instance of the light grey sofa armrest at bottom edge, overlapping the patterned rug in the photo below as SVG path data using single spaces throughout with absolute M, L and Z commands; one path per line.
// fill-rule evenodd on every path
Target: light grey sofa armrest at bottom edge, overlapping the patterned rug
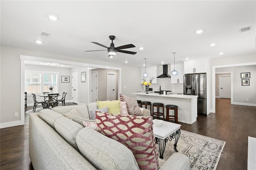
M 174 153 L 159 170 L 190 170 L 190 161 L 187 156 Z

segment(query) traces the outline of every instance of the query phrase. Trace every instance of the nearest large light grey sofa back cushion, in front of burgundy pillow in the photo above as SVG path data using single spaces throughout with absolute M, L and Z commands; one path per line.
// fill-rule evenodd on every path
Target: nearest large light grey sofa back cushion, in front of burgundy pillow
M 83 128 L 76 135 L 76 143 L 81 154 L 97 169 L 138 170 L 132 152 L 123 144 L 96 132 Z

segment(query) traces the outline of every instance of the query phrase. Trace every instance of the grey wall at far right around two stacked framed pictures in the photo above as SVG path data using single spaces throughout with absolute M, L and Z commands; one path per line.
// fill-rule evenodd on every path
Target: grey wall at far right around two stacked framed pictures
M 233 102 L 256 106 L 256 65 L 216 68 L 216 72 L 233 71 Z M 250 85 L 242 86 L 241 73 L 250 73 Z M 248 99 L 248 101 L 246 101 Z

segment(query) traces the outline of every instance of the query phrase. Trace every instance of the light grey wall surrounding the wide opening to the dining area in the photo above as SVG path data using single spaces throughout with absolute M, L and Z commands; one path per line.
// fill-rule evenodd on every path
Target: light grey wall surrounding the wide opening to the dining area
M 66 61 L 75 61 L 80 63 L 89 63 L 97 65 L 105 65 L 116 67 L 114 63 L 108 63 L 103 61 L 95 61 L 91 59 L 78 58 L 74 56 L 56 55 L 53 53 L 44 53 L 42 51 L 31 51 L 27 49 L 21 49 L 16 47 L 9 47 L 1 45 L 0 57 L 0 127 L 10 127 L 22 125 L 21 118 L 21 64 L 20 55 L 28 55 L 34 57 L 42 57 L 49 59 L 59 59 Z M 88 57 L 87 57 L 88 58 Z M 140 85 L 140 68 L 127 65 L 118 65 L 122 68 L 121 71 L 121 85 L 122 93 L 124 95 L 132 96 L 131 93 L 141 88 Z M 71 77 L 70 77 L 71 78 Z M 127 87 L 124 89 L 124 85 Z M 23 95 L 23 94 L 22 94 Z M 13 97 L 15 96 L 15 97 Z M 134 95 L 135 97 L 135 95 Z M 22 96 L 23 98 L 23 96 Z M 10 102 L 11 101 L 11 102 Z M 23 107 L 22 107 L 23 108 Z M 23 109 L 22 109 L 23 110 Z M 18 117 L 14 117 L 14 113 L 18 112 Z M 24 110 L 23 110 L 24 112 Z M 24 119 L 24 118 L 23 118 Z M 24 120 L 23 120 L 24 121 Z

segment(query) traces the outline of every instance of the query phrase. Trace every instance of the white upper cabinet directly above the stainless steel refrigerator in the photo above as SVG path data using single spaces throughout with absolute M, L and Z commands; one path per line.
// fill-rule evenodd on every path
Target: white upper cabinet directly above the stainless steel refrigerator
M 210 59 L 198 59 L 194 61 L 184 61 L 184 74 L 206 73 L 210 67 Z

